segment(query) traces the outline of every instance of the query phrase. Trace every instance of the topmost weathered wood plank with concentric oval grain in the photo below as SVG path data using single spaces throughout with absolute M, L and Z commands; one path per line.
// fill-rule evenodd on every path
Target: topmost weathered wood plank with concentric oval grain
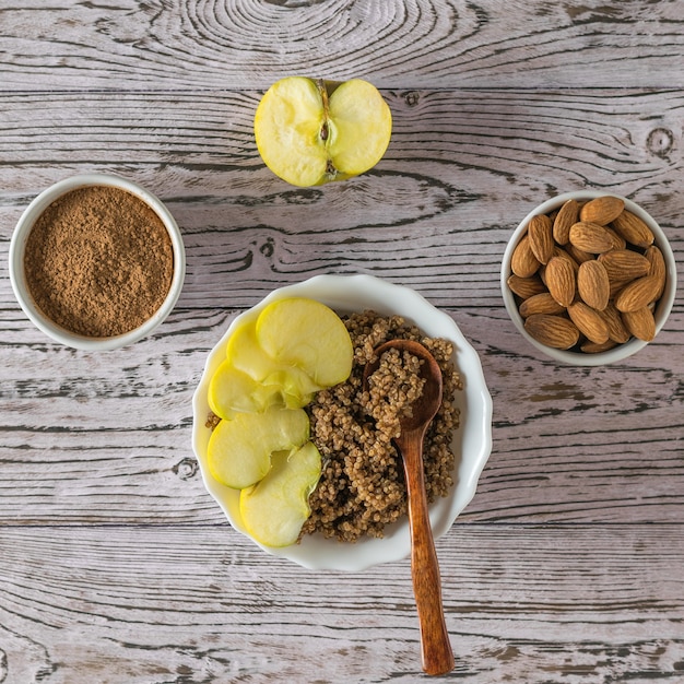
M 402 89 L 684 84 L 681 0 L 62 0 L 0 12 L 13 91 L 267 87 L 302 72 Z

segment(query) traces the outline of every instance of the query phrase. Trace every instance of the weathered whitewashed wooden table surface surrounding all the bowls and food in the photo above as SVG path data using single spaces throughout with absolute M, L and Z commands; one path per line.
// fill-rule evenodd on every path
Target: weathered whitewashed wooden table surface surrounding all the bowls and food
M 684 263 L 684 1 L 0 0 L 0 682 L 416 682 L 409 561 L 300 568 L 234 531 L 190 443 L 232 318 L 318 273 L 447 311 L 494 401 L 477 493 L 437 543 L 468 683 L 684 682 L 684 306 L 624 363 L 514 329 L 506 241 L 569 190 L 640 203 Z M 299 189 L 252 135 L 276 79 L 375 83 L 368 174 Z M 116 173 L 185 238 L 180 299 L 120 351 L 52 343 L 7 255 L 43 189 Z M 684 280 L 681 278 L 681 281 Z

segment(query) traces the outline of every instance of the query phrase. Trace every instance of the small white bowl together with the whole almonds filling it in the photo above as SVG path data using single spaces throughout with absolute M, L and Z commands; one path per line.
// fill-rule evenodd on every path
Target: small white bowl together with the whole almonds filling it
M 630 200 L 567 192 L 530 212 L 502 263 L 520 333 L 552 358 L 599 366 L 635 354 L 664 326 L 676 290 L 672 248 Z

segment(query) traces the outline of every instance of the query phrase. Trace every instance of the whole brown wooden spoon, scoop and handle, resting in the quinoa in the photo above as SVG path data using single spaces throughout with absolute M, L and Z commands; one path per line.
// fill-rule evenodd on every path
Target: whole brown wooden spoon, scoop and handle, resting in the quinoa
M 411 529 L 411 575 L 421 625 L 423 670 L 427 674 L 445 674 L 453 670 L 453 653 L 444 618 L 441 579 L 427 511 L 423 474 L 423 439 L 427 426 L 441 404 L 441 369 L 434 356 L 418 342 L 390 340 L 378 346 L 377 359 L 364 369 L 364 387 L 377 370 L 380 356 L 389 349 L 409 352 L 424 359 L 421 377 L 425 378 L 422 397 L 414 402 L 413 415 L 400 420 L 401 435 L 394 444 L 401 452 L 409 502 Z

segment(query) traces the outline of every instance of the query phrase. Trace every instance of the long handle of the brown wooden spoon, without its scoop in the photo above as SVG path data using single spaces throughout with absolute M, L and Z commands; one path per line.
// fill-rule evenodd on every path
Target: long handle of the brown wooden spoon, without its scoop
M 411 575 L 421 626 L 423 670 L 427 674 L 445 674 L 453 670 L 455 661 L 444 618 L 439 563 L 425 496 L 423 435 L 420 431 L 406 432 L 402 434 L 401 443 L 411 529 Z

